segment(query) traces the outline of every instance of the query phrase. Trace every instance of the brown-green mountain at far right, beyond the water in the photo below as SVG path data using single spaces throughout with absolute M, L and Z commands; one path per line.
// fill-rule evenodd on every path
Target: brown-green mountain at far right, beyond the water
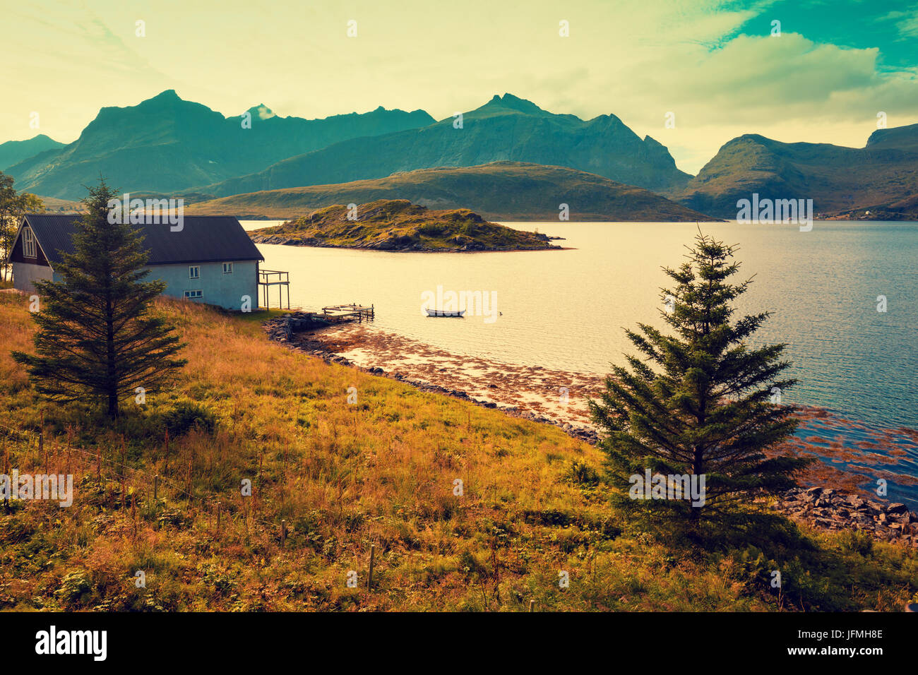
M 874 131 L 864 148 L 782 143 L 746 134 L 726 143 L 681 191 L 667 193 L 721 218 L 736 201 L 812 198 L 817 213 L 907 208 L 918 195 L 918 124 Z M 907 212 L 907 210 L 906 210 Z

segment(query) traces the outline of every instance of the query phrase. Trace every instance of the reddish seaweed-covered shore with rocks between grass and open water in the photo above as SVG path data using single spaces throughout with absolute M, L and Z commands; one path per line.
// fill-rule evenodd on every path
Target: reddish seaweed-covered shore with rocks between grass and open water
M 367 324 L 295 332 L 288 339 L 284 321 L 267 321 L 264 328 L 271 339 L 297 351 L 511 417 L 552 424 L 588 444 L 599 442 L 587 401 L 599 395 L 605 376 L 452 354 Z M 799 489 L 769 501 L 769 507 L 818 529 L 865 530 L 918 547 L 918 504 L 912 499 L 902 500 L 908 505 L 891 499 L 884 503 L 873 489 L 880 478 L 918 487 L 918 478 L 893 470 L 908 455 L 903 445 L 918 452 L 918 431 L 878 429 L 816 406 L 794 409 L 798 432 L 774 455 L 794 453 L 817 461 L 801 472 Z

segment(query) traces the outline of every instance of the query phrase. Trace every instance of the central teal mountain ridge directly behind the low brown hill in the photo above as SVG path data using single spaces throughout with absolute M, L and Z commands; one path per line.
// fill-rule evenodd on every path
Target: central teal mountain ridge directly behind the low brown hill
M 690 177 L 663 145 L 649 136 L 642 141 L 614 115 L 589 120 L 554 115 L 507 94 L 465 113 L 462 129 L 453 122 L 447 118 L 422 129 L 342 141 L 199 189 L 226 197 L 498 161 L 567 166 L 655 190 L 684 186 Z

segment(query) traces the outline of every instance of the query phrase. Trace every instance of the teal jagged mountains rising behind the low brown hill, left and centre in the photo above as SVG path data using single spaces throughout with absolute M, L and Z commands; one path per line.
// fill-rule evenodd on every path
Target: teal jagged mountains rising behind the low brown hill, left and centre
M 10 167 L 20 189 L 75 198 L 105 175 L 128 192 L 204 192 L 223 197 L 328 185 L 436 166 L 516 161 L 571 168 L 661 190 L 691 177 L 666 148 L 621 119 L 554 115 L 509 94 L 436 122 L 421 110 L 280 118 L 269 108 L 224 118 L 173 90 L 132 107 L 104 107 L 69 145 Z

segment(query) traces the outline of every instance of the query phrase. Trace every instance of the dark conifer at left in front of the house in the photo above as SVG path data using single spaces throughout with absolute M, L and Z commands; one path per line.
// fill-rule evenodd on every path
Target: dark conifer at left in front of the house
M 28 366 L 40 394 L 52 400 L 95 399 L 118 417 L 118 401 L 160 390 L 185 366 L 174 358 L 185 345 L 174 327 L 151 316 L 162 281 L 143 282 L 148 253 L 129 223 L 110 223 L 108 202 L 118 197 L 101 181 L 88 188 L 88 212 L 76 223 L 74 253 L 62 253 L 61 282 L 36 282 L 37 354 L 14 352 Z

